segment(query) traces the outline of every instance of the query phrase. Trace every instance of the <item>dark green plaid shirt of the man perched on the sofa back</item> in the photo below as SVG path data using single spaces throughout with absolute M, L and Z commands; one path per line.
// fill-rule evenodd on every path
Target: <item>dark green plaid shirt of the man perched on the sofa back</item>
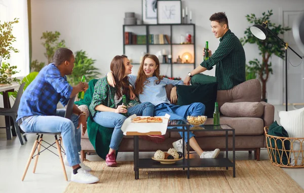
M 246 81 L 245 51 L 239 38 L 230 29 L 219 41 L 217 50 L 201 66 L 211 70 L 216 65 L 217 90 L 229 90 Z

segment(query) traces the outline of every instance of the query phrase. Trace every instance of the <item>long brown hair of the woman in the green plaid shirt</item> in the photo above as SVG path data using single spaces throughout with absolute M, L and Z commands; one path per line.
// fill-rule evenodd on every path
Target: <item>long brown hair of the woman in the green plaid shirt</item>
M 125 76 L 125 65 L 124 65 L 124 58 L 127 58 L 125 55 L 117 55 L 115 56 L 110 64 L 110 69 L 113 73 L 114 80 L 116 83 L 116 94 L 118 98 L 122 97 L 121 88 L 123 89 L 123 94 L 129 95 L 129 81 L 128 76 Z

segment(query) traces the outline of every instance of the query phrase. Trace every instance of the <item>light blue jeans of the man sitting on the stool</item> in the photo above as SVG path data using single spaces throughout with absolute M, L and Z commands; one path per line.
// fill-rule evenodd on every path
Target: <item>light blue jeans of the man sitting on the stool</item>
M 61 132 L 67 161 L 70 166 L 75 166 L 80 164 L 81 128 L 77 129 L 78 115 L 72 114 L 71 121 L 64 118 L 64 114 L 65 109 L 58 109 L 55 116 L 34 115 L 22 121 L 20 127 L 24 132 Z

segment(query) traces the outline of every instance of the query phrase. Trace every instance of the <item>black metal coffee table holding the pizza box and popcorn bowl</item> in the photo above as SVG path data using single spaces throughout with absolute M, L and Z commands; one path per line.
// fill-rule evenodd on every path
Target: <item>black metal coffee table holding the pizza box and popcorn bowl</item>
M 139 159 L 139 141 L 138 135 L 134 135 L 134 174 L 135 179 L 139 179 L 139 169 L 143 168 L 187 168 L 187 178 L 190 178 L 190 168 L 198 168 L 198 167 L 233 167 L 233 177 L 236 177 L 236 166 L 235 166 L 235 129 L 230 127 L 229 125 L 203 125 L 190 127 L 187 122 L 183 120 L 170 120 L 168 123 L 168 127 L 183 127 L 183 129 L 167 129 L 167 132 L 225 132 L 225 158 L 214 158 L 214 159 L 190 159 L 189 158 L 189 150 L 190 146 L 187 143 L 187 159 L 183 158 L 180 161 L 177 161 L 174 164 L 161 164 L 152 159 Z M 233 136 L 233 162 L 228 158 L 228 132 L 232 132 Z M 140 135 L 151 135 L 150 133 L 140 134 Z M 159 135 L 158 133 L 153 133 L 152 135 Z M 187 135 L 189 141 L 189 135 Z M 184 149 L 184 140 L 183 140 L 183 149 Z M 184 152 L 183 152 L 184 155 Z

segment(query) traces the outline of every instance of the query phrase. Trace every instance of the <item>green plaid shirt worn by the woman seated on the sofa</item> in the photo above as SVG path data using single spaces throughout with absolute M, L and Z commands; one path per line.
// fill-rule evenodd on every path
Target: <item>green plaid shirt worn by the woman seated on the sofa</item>
M 94 87 L 93 99 L 89 107 L 92 117 L 94 117 L 95 113 L 98 112 L 98 110 L 95 110 L 95 107 L 97 105 L 103 104 L 104 106 L 110 108 L 116 108 L 114 99 L 116 90 L 116 88 L 111 87 L 108 84 L 106 76 L 97 81 Z M 130 100 L 130 97 L 128 95 L 126 95 L 126 99 L 128 103 L 127 107 L 139 104 L 138 99 Z M 122 104 L 122 101 L 120 101 L 119 105 L 120 104 Z

